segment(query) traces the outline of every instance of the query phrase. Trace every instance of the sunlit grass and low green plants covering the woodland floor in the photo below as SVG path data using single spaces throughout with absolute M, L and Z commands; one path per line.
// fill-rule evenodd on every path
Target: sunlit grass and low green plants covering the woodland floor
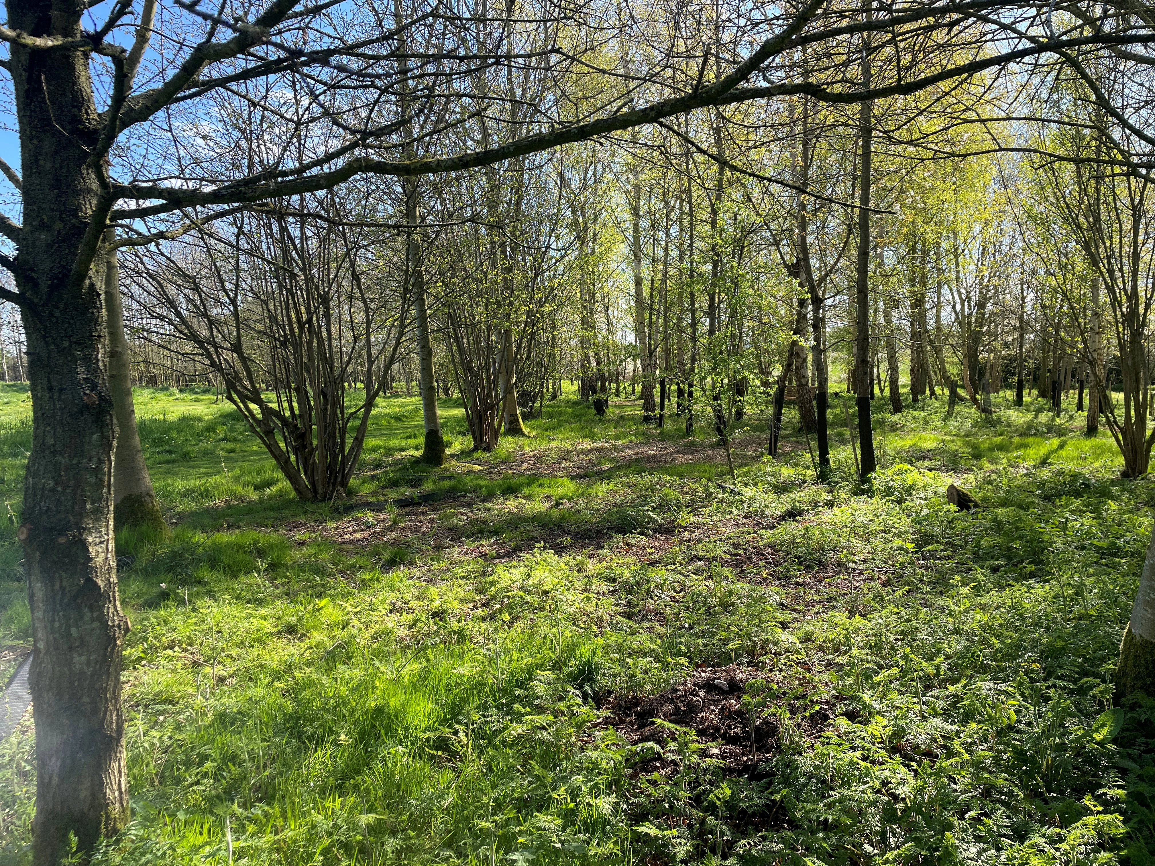
M 1076 416 L 997 408 L 879 419 L 864 488 L 844 424 L 827 481 L 757 424 L 732 481 L 629 401 L 546 404 L 487 455 L 446 401 L 430 471 L 389 398 L 319 505 L 211 391 L 142 391 L 174 531 L 117 539 L 133 821 L 97 861 L 1148 863 L 1155 703 L 1115 707 L 1111 673 L 1155 486 Z M 0 412 L 18 515 L 27 397 Z M 33 747 L 30 717 L 0 744 L 13 863 Z

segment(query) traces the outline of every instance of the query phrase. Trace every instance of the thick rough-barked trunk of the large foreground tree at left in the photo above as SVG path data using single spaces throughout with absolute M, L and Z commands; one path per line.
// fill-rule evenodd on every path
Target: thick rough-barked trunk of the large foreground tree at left
M 80 39 L 85 8 L 12 0 L 8 23 L 36 36 Z M 128 620 L 117 593 L 112 535 L 116 419 L 103 255 L 88 266 L 110 204 L 100 196 L 105 167 L 90 159 L 100 126 L 88 57 L 79 50 L 13 45 L 9 60 L 23 174 L 16 285 L 25 299 L 32 397 L 32 450 L 17 538 L 36 650 L 30 686 L 37 866 L 59 863 L 70 834 L 87 852 L 128 819 L 120 706 Z

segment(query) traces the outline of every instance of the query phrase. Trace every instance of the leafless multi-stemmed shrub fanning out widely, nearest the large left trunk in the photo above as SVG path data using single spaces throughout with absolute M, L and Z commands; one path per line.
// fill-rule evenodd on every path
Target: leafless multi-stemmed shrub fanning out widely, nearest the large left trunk
M 336 194 L 321 199 L 142 253 L 134 276 L 152 318 L 221 378 L 293 492 L 329 501 L 352 479 L 420 277 L 389 281 L 374 234 L 349 227 Z M 408 263 L 409 241 L 404 251 Z

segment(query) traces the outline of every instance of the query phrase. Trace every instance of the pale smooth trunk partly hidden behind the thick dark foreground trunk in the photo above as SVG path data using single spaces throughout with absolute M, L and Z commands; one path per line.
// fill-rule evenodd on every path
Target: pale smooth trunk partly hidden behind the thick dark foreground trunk
M 140 434 L 136 431 L 136 408 L 133 403 L 132 366 L 128 339 L 125 337 L 125 313 L 120 303 L 120 268 L 112 248 L 117 233 L 104 233 L 109 247 L 104 270 L 104 307 L 109 329 L 109 393 L 117 418 L 117 451 L 113 460 L 113 523 L 121 527 L 151 527 L 165 531 L 167 524 L 152 491 L 152 479 L 144 463 Z

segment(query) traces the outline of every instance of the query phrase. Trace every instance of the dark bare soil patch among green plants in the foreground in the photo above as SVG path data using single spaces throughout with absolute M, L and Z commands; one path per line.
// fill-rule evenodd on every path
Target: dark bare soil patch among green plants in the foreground
M 772 688 L 776 685 L 765 671 L 752 667 L 700 667 L 658 695 L 610 697 L 603 703 L 609 715 L 601 724 L 613 727 L 631 744 L 654 742 L 663 748 L 676 739 L 676 732 L 658 721 L 690 729 L 702 747 L 700 754 L 721 761 L 726 776 L 758 778 L 758 764 L 778 748 L 782 724 L 776 716 L 755 711 L 751 729 L 743 695 L 754 681 L 767 681 Z M 792 724 L 810 738 L 825 727 L 830 716 L 828 707 L 818 704 L 817 710 L 798 715 Z M 677 748 L 671 747 L 634 768 L 633 777 L 651 772 L 673 777 L 679 771 Z

